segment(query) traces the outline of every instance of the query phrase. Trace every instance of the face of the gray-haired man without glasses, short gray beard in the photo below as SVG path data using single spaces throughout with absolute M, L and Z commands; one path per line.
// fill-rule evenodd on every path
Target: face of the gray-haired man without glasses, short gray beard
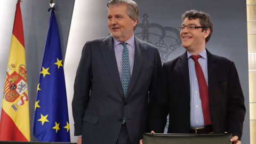
M 110 6 L 108 10 L 109 33 L 117 41 L 125 42 L 132 37 L 133 28 L 138 20 L 132 20 L 127 14 L 126 5 Z

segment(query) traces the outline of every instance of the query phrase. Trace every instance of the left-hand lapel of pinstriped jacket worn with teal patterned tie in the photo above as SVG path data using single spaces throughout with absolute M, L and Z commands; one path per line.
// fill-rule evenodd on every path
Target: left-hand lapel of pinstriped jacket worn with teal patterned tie
M 116 55 L 114 50 L 114 40 L 111 36 L 102 39 L 102 44 L 100 45 L 100 50 L 105 60 L 106 66 L 108 68 L 109 74 L 113 79 L 113 82 L 118 90 L 118 92 L 123 96 L 123 88 L 120 81 L 118 68 L 116 64 Z

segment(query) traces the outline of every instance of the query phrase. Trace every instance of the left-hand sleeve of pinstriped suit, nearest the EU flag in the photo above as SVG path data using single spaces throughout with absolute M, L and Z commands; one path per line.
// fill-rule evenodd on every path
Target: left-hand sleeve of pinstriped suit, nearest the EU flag
M 72 101 L 75 136 L 82 135 L 83 117 L 90 99 L 91 79 L 91 47 L 90 43 L 86 42 L 83 47 L 82 57 L 76 72 L 74 97 Z

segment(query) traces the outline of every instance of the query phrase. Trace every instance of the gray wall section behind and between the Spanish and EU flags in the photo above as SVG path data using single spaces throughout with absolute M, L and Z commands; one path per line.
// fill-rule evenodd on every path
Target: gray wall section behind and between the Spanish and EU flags
M 58 21 L 63 58 L 67 49 L 68 34 L 74 8 L 74 0 L 55 0 L 55 15 Z M 0 1 L 0 93 L 3 94 L 7 62 L 11 45 L 12 28 L 17 1 Z M 33 117 L 36 91 L 44 53 L 51 12 L 50 1 L 23 0 L 20 4 L 23 20 L 26 65 L 28 76 L 30 139 L 37 141 L 33 135 Z M 0 99 L 2 108 L 2 98 Z M 0 111 L 1 113 L 1 111 Z

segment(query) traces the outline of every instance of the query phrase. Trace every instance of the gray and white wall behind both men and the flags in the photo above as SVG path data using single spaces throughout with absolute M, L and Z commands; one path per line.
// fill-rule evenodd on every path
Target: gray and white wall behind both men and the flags
M 1 87 L 4 87 L 16 2 L 0 2 L 0 19 L 2 19 L 0 23 L 0 93 L 3 93 L 3 88 L 1 90 Z M 55 14 L 59 25 L 63 56 L 65 56 L 66 52 L 66 58 L 63 58 L 65 58 L 64 69 L 71 136 L 74 134 L 71 99 L 73 98 L 76 69 L 85 42 L 109 34 L 107 27 L 107 2 L 108 0 L 55 0 Z M 246 1 L 138 0 L 135 2 L 139 5 L 139 23 L 141 23 L 141 26 L 143 26 L 143 15 L 148 15 L 148 24 L 144 24 L 151 26 L 148 30 L 150 33 L 148 41 L 153 44 L 159 42 L 159 36 L 162 35 L 158 29 L 160 27 L 165 30 L 164 44 L 168 47 L 170 46 L 171 50 L 173 47 L 176 48 L 172 53 L 167 53 L 167 55 L 169 54 L 167 58 L 165 57 L 167 60 L 178 57 L 185 52 L 185 49 L 177 41 L 177 33 L 175 33 L 175 29 L 177 30 L 181 24 L 181 14 L 187 10 L 196 9 L 211 15 L 213 35 L 206 44 L 206 48 L 213 54 L 233 60 L 236 64 L 247 110 L 242 143 L 250 143 Z M 28 71 L 31 141 L 35 140 L 32 134 L 32 124 L 39 71 L 50 19 L 50 12 L 47 12 L 48 8 L 49 2 L 45 0 L 26 0 L 21 3 Z M 73 16 L 71 16 L 72 12 Z M 134 34 L 137 34 L 136 36 L 139 37 L 141 31 L 141 28 L 138 27 Z M 166 53 L 163 54 L 166 55 Z M 238 56 L 242 59 L 238 59 Z M 2 99 L 0 99 L 0 106 L 2 106 Z M 71 141 L 75 142 L 76 137 L 71 137 Z

